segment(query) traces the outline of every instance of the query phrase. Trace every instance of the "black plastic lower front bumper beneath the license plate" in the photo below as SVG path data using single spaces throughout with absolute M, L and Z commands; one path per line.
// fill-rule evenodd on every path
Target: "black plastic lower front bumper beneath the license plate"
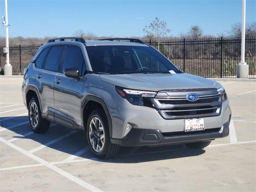
M 165 144 L 181 144 L 197 141 L 209 141 L 216 138 L 226 137 L 229 134 L 229 122 L 221 128 L 206 129 L 199 132 L 171 132 L 161 133 L 152 129 L 132 129 L 128 135 L 122 139 L 110 138 L 113 144 L 121 146 L 150 146 Z

